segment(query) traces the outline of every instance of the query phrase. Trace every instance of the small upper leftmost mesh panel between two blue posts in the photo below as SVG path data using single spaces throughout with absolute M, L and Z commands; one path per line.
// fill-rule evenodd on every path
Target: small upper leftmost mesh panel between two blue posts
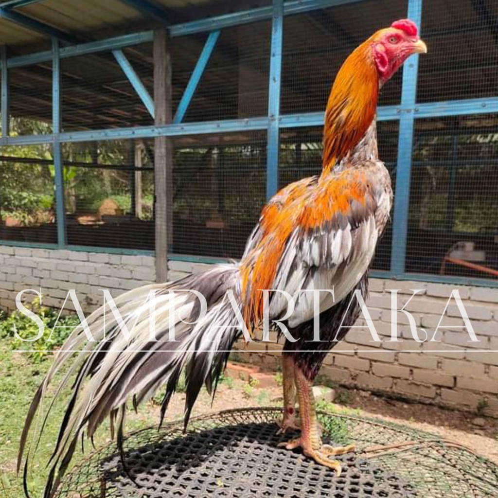
M 10 135 L 52 133 L 52 63 L 8 70 Z

